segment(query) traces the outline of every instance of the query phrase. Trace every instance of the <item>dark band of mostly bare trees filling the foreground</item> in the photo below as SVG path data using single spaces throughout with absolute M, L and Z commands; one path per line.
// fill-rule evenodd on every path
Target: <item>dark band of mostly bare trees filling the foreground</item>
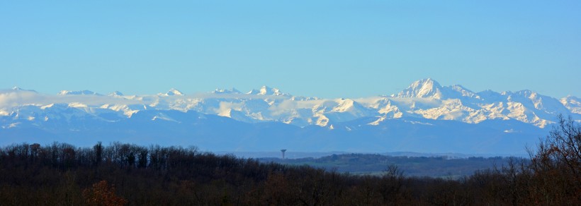
M 405 176 L 396 164 L 351 175 L 196 147 L 21 143 L 0 147 L 0 205 L 581 205 L 578 123 L 561 118 L 530 158 L 452 179 Z

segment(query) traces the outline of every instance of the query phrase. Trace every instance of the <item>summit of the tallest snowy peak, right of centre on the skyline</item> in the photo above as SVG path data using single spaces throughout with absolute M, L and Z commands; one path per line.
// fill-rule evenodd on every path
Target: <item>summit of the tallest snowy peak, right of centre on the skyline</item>
M 432 97 L 435 99 L 441 99 L 441 89 L 442 87 L 438 82 L 431 78 L 427 78 L 415 81 L 410 85 L 410 87 L 407 87 L 407 89 L 397 94 L 397 97 Z

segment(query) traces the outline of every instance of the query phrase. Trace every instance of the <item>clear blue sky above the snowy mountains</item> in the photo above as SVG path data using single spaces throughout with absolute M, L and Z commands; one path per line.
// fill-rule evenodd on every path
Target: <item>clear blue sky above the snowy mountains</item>
M 0 88 L 581 97 L 581 1 L 0 1 Z

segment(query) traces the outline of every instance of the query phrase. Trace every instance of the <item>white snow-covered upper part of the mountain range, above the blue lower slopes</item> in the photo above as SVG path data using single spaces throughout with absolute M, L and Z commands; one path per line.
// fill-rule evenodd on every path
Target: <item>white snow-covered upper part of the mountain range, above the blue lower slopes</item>
M 60 115 L 44 110 L 55 104 L 94 115 L 111 110 L 119 114 L 119 118 L 128 119 L 140 111 L 177 110 L 215 114 L 247 123 L 281 122 L 300 127 L 317 125 L 329 128 L 333 124 L 362 118 L 368 118 L 365 123 L 375 126 L 386 119 L 404 117 L 464 123 L 514 119 L 538 128 L 555 123 L 558 114 L 581 119 L 581 100 L 577 97 L 555 99 L 529 90 L 472 92 L 461 85 L 441 86 L 429 78 L 418 80 L 395 95 L 360 99 L 297 97 L 266 86 L 247 93 L 217 89 L 184 95 L 172 88 L 158 95 L 130 96 L 121 92 L 99 95 L 88 90 L 63 90 L 58 95 L 43 95 L 15 87 L 1 91 L 0 116 L 12 116 L 14 120 L 51 121 L 51 116 Z M 17 126 L 13 122 L 2 125 L 3 128 Z

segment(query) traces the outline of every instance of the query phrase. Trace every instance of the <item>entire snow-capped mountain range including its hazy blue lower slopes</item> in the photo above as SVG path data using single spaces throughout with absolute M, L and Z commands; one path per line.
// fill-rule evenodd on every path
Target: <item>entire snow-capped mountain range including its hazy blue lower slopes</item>
M 111 140 L 157 143 L 170 138 L 163 136 L 167 133 L 173 135 L 171 143 L 208 150 L 264 151 L 280 143 L 307 151 L 514 153 L 524 149 L 519 144 L 531 146 L 545 135 L 559 114 L 580 121 L 581 100 L 530 90 L 473 92 L 429 78 L 394 95 L 358 99 L 301 97 L 266 86 L 196 95 L 176 89 L 157 95 L 88 90 L 44 95 L 14 87 L 0 90 L 0 143 L 67 138 L 93 143 L 103 138 L 93 135 L 99 133 Z M 452 146 L 467 136 L 480 145 Z

